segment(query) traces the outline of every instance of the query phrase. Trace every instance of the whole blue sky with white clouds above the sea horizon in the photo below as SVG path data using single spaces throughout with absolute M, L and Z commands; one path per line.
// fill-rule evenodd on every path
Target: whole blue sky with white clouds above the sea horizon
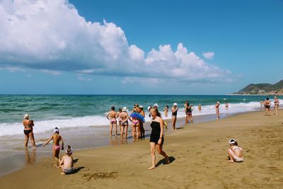
M 283 79 L 283 1 L 1 0 L 0 94 L 226 94 Z

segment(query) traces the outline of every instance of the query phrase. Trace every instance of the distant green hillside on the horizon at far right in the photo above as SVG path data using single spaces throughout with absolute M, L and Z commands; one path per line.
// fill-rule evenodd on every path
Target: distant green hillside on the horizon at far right
M 276 84 L 249 84 L 237 93 L 242 95 L 283 95 L 283 79 Z

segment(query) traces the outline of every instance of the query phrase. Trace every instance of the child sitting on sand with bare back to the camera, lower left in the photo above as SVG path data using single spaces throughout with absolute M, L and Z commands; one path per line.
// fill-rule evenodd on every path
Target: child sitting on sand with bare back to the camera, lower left
M 75 168 L 74 159 L 71 156 L 72 153 L 73 150 L 70 146 L 68 146 L 68 148 L 66 149 L 66 155 L 62 156 L 62 159 L 60 159 L 59 166 L 61 166 L 62 168 L 62 175 L 74 173 Z

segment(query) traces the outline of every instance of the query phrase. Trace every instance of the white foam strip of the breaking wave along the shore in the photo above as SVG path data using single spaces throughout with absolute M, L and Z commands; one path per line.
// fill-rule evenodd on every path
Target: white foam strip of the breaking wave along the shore
M 283 100 L 280 100 L 280 104 L 283 103 Z M 273 105 L 273 103 L 272 103 Z M 193 106 L 192 115 L 209 115 L 215 114 L 214 105 L 204 105 L 202 106 L 202 112 L 199 113 L 197 110 L 197 105 Z M 272 107 L 273 108 L 273 107 Z M 225 104 L 220 105 L 220 113 L 243 113 L 249 111 L 260 110 L 259 102 L 250 102 L 250 103 L 230 103 L 229 110 L 225 110 Z M 164 117 L 163 110 L 161 114 Z M 178 118 L 185 117 L 184 108 L 180 107 L 178 111 Z M 171 118 L 171 111 L 168 113 L 168 118 Z M 108 125 L 109 120 L 105 118 L 105 115 L 93 115 L 85 116 L 81 118 L 67 118 L 62 120 L 41 120 L 35 121 L 34 133 L 50 132 L 54 127 L 67 128 L 67 127 L 88 127 L 88 126 L 101 126 Z M 146 121 L 150 121 L 149 113 L 146 112 Z M 15 122 L 12 124 L 2 123 L 0 124 L 0 136 L 5 135 L 17 135 L 23 134 L 23 125 L 21 122 Z

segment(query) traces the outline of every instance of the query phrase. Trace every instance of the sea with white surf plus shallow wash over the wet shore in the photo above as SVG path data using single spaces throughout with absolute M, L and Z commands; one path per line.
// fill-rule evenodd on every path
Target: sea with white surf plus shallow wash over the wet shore
M 23 166 L 30 165 L 40 156 L 51 156 L 52 145 L 42 148 L 51 135 L 54 127 L 59 127 L 65 145 L 71 145 L 74 150 L 92 147 L 105 147 L 109 145 L 127 144 L 132 141 L 131 127 L 129 127 L 128 140 L 119 137 L 108 137 L 109 120 L 105 118 L 111 106 L 129 110 L 135 103 L 143 105 L 146 112 L 146 121 L 149 122 L 147 106 L 158 103 L 158 110 L 164 119 L 163 108 L 178 103 L 180 110 L 178 118 L 185 117 L 184 103 L 189 101 L 193 105 L 192 115 L 196 122 L 216 119 L 214 105 L 220 105 L 220 118 L 260 110 L 260 101 L 266 96 L 203 96 L 203 95 L 0 95 L 0 176 L 16 171 Z M 273 96 L 270 96 L 273 100 Z M 229 110 L 225 110 L 225 101 L 229 103 Z M 279 99 L 280 104 L 283 103 Z M 199 113 L 197 106 L 202 105 Z M 273 103 L 272 103 L 273 108 Z M 23 148 L 23 115 L 28 113 L 34 120 L 36 150 Z M 196 116 L 200 115 L 200 116 Z M 183 121 L 177 122 L 177 127 Z M 165 134 L 171 131 L 168 125 Z M 119 130 L 119 127 L 118 127 Z M 149 136 L 150 127 L 145 125 L 146 136 Z M 119 132 L 118 132 L 119 133 Z M 61 152 L 62 153 L 62 152 Z M 36 158 L 35 158 L 36 157 Z

